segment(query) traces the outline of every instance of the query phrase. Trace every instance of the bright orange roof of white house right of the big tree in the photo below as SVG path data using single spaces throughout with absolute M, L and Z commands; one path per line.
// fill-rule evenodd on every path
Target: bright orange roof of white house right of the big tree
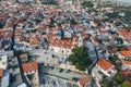
M 112 64 L 106 61 L 105 59 L 99 59 L 97 65 L 99 65 L 104 70 L 109 70 L 110 67 L 112 67 Z

